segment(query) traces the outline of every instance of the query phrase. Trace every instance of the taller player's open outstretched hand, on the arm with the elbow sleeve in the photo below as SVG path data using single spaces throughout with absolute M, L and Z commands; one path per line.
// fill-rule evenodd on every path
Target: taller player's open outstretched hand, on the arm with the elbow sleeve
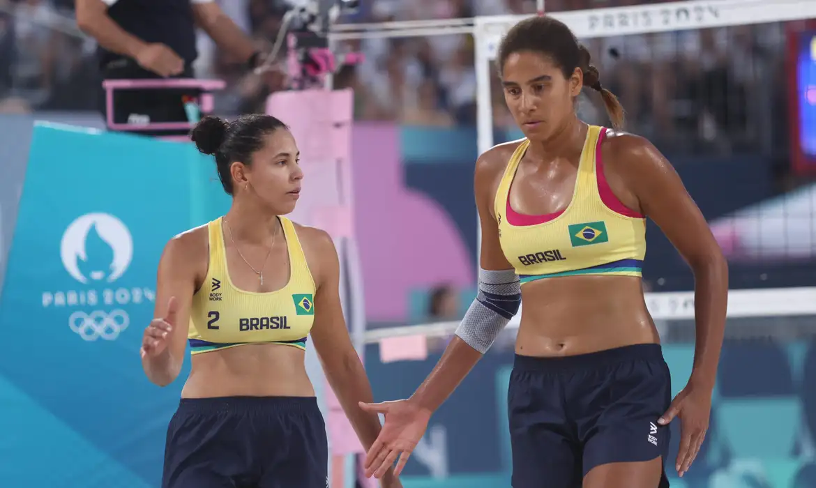
M 384 401 L 382 403 L 360 403 L 367 412 L 385 415 L 385 424 L 379 436 L 366 454 L 366 477 L 374 475 L 382 478 L 399 456 L 394 474 L 399 476 L 405 468 L 410 454 L 428 428 L 431 419 L 429 410 L 420 408 L 410 400 Z

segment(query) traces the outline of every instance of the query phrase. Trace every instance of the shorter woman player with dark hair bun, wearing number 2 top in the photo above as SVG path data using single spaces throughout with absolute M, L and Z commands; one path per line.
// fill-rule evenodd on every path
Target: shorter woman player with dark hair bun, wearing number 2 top
M 304 367 L 308 335 L 364 446 L 379 433 L 358 401 L 371 389 L 344 324 L 329 235 L 282 217 L 303 172 L 277 118 L 205 118 L 193 129 L 215 155 L 227 215 L 168 242 L 156 319 L 144 331 L 144 372 L 170 384 L 192 369 L 167 432 L 163 488 L 325 488 L 325 424 Z M 400 486 L 389 473 L 384 486 Z

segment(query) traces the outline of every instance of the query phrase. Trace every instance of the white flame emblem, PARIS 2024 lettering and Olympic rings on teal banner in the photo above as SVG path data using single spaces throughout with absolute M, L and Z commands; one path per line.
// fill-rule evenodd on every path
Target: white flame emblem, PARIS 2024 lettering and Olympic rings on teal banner
M 42 293 L 43 308 L 69 308 L 69 326 L 82 339 L 114 340 L 130 325 L 122 306 L 151 303 L 155 292 L 146 286 L 114 287 L 133 259 L 131 233 L 113 215 L 94 213 L 69 224 L 60 242 L 65 271 L 82 286 Z

